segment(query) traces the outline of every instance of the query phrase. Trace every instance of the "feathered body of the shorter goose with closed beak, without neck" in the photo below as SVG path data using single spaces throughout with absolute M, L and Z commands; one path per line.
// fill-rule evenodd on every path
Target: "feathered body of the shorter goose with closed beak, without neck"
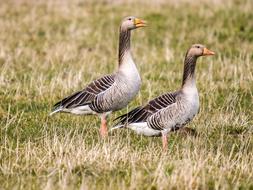
M 173 101 L 169 102 L 168 98 Z M 126 126 L 145 136 L 161 136 L 171 130 L 183 127 L 198 113 L 199 97 L 198 91 L 183 92 L 183 90 L 164 94 L 151 100 L 144 107 L 139 107 L 132 114 L 121 116 L 121 119 L 131 120 Z M 122 120 L 123 121 L 123 120 Z M 123 125 L 122 125 L 123 126 Z M 120 127 L 120 126 L 118 126 Z

